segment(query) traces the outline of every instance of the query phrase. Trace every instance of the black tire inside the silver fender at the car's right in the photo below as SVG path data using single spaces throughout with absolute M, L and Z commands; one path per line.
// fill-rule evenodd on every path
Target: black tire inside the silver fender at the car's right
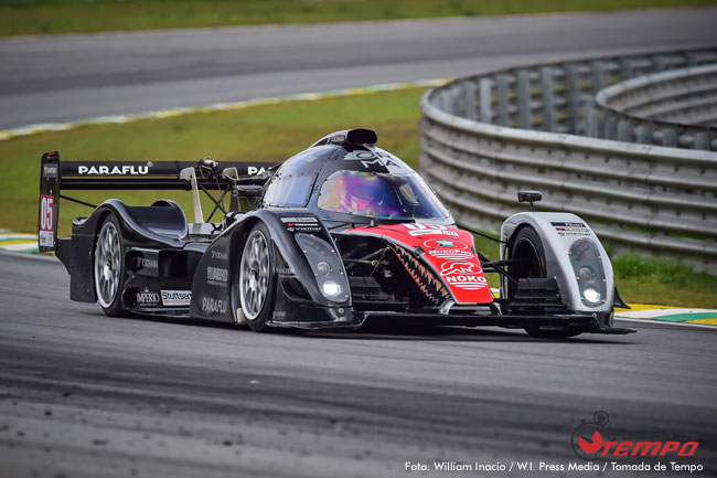
M 511 267 L 511 275 L 515 279 L 521 278 L 546 278 L 545 248 L 541 236 L 531 226 L 521 229 L 515 235 L 511 247 L 511 259 L 524 259 L 524 264 Z M 509 297 L 513 298 L 517 290 L 515 284 L 509 284 Z M 581 332 L 560 328 L 526 327 L 525 331 L 531 337 L 541 339 L 565 339 L 579 336 Z

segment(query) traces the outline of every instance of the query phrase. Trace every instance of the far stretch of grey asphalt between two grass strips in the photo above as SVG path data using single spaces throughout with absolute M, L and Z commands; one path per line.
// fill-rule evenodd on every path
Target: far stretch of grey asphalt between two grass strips
M 0 40 L 0 129 L 717 43 L 717 9 Z

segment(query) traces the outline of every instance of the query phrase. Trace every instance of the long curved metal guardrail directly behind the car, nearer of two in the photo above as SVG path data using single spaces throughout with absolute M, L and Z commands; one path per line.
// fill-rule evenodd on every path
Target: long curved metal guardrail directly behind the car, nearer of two
M 510 68 L 432 88 L 420 103 L 420 169 L 467 225 L 497 232 L 523 210 L 516 191 L 538 189 L 538 209 L 581 215 L 616 252 L 714 268 L 717 153 L 578 136 L 606 85 L 710 62 L 717 47 Z

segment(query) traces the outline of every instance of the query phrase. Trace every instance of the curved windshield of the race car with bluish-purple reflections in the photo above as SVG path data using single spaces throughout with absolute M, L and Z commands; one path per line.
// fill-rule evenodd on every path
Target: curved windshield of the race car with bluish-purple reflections
M 375 219 L 442 219 L 448 211 L 415 172 L 336 171 L 321 185 L 319 209 Z

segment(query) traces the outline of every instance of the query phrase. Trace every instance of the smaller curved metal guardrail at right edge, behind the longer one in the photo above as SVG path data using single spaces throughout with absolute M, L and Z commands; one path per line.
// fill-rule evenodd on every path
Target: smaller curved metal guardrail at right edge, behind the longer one
M 590 136 L 717 151 L 717 64 L 654 73 L 598 93 Z

